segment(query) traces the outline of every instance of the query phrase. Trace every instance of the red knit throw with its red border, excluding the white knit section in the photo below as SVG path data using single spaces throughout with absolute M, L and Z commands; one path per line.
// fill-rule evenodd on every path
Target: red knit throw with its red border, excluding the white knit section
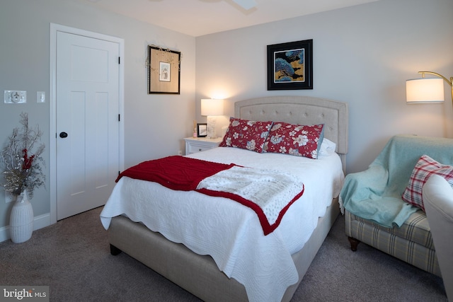
M 116 182 L 127 176 L 138 180 L 147 180 L 151 182 L 157 182 L 164 187 L 168 187 L 171 190 L 190 191 L 195 190 L 202 194 L 207 194 L 214 197 L 226 197 L 236 202 L 243 204 L 246 207 L 250 207 L 258 215 L 261 226 L 263 227 L 264 235 L 268 235 L 273 232 L 275 228 L 280 224 L 283 215 L 289 209 L 289 206 L 295 202 L 299 197 L 302 196 L 304 190 L 297 194 L 292 200 L 289 200 L 287 205 L 280 211 L 280 214 L 275 223 L 270 224 L 266 218 L 263 209 L 258 204 L 251 202 L 250 200 L 244 199 L 243 197 L 229 193 L 229 192 L 218 192 L 207 189 L 197 189 L 197 185 L 200 181 L 208 178 L 222 170 L 229 169 L 235 164 L 229 165 L 224 163 L 213 163 L 210 161 L 201 161 L 195 158 L 188 158 L 184 156 L 168 156 L 166 158 L 159 158 L 154 161 L 144 161 L 138 165 L 134 165 L 128 168 L 124 172 L 118 175 Z

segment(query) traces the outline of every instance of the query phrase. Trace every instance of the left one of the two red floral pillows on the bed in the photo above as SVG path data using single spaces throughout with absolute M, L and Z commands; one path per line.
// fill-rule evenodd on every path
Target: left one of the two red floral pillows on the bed
M 231 117 L 229 119 L 229 127 L 219 146 L 248 149 L 261 153 L 272 124 L 273 122 L 270 121 L 257 122 Z

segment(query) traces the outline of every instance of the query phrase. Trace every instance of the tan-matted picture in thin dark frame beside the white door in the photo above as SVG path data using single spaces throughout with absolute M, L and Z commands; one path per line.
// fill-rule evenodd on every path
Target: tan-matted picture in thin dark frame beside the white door
M 181 53 L 148 45 L 148 94 L 180 94 Z

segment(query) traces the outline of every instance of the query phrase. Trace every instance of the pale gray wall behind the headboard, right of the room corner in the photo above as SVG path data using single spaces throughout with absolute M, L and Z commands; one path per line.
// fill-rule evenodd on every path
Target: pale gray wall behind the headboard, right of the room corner
M 197 37 L 200 99 L 311 95 L 349 103 L 347 171 L 367 168 L 394 134 L 453 137 L 445 103 L 406 104 L 406 79 L 453 76 L 453 1 L 381 0 L 287 21 Z M 314 89 L 267 91 L 266 45 L 314 40 Z

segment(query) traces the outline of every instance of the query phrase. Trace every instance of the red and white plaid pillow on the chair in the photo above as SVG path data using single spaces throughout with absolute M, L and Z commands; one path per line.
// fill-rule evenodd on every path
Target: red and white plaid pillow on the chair
M 438 174 L 445 178 L 453 186 L 453 166 L 442 165 L 427 155 L 423 155 L 413 168 L 409 185 L 403 192 L 403 200 L 414 207 L 425 211 L 423 205 L 422 189 L 425 182 L 432 174 Z

